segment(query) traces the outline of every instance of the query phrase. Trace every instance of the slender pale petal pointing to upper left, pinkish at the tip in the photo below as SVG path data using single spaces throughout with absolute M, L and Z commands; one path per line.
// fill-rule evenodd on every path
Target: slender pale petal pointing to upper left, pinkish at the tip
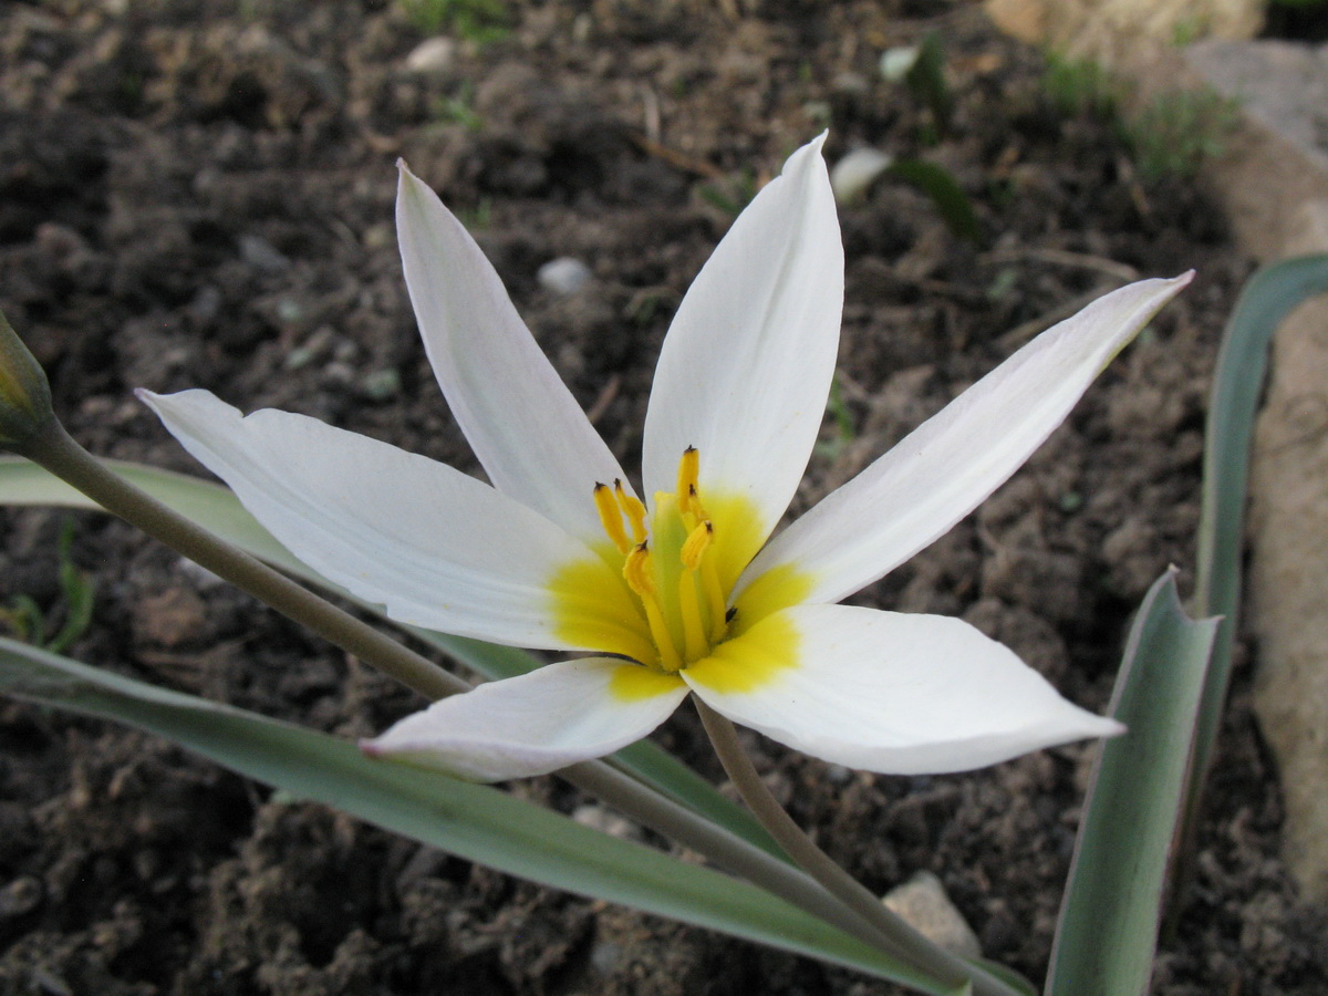
M 425 352 L 494 487 L 586 540 L 596 481 L 625 477 L 459 220 L 401 163 L 397 239 Z

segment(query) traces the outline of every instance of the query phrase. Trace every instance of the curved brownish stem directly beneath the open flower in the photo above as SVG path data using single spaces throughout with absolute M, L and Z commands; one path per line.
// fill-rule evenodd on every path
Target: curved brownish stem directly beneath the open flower
M 973 996 L 1016 996 L 1016 991 L 996 976 L 930 942 L 837 865 L 770 794 L 752 765 L 752 758 L 742 749 L 733 724 L 701 701 L 700 696 L 693 695 L 692 701 L 696 703 L 720 764 L 748 809 L 807 875 L 871 928 L 878 947 L 930 976 L 944 979 L 956 989 L 971 981 Z

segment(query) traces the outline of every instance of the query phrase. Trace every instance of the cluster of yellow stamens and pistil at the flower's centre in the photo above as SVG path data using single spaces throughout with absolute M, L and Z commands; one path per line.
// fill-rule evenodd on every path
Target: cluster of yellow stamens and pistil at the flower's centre
M 729 625 L 716 526 L 701 502 L 699 473 L 700 453 L 688 446 L 679 461 L 677 490 L 655 494 L 653 515 L 622 481 L 595 485 L 604 534 L 623 556 L 623 579 L 649 627 L 655 660 L 643 663 L 668 672 L 709 656 Z

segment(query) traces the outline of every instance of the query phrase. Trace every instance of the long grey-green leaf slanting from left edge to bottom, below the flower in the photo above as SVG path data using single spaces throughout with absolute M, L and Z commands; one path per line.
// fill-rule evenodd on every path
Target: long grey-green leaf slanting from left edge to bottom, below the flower
M 951 993 L 746 882 L 685 865 L 513 798 L 347 741 L 0 640 L 0 692 L 113 718 L 246 777 L 323 802 L 466 861 L 579 895 L 807 955 L 927 993 Z

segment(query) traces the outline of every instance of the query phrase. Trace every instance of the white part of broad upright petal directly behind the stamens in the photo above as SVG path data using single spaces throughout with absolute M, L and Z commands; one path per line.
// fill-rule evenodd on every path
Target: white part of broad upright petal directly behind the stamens
M 697 275 L 645 416 L 645 494 L 672 491 L 683 450 L 696 446 L 703 501 L 749 498 L 757 546 L 806 469 L 839 348 L 843 246 L 823 141 L 789 158 Z

